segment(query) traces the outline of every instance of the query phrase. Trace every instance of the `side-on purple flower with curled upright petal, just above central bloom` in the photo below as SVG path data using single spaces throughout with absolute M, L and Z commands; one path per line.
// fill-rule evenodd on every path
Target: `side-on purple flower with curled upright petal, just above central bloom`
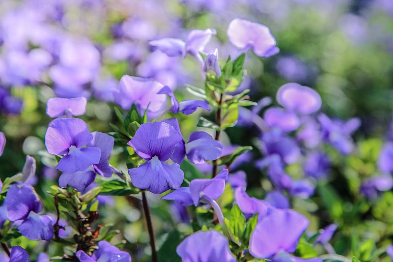
M 186 99 L 179 103 L 173 91 L 167 86 L 163 87 L 160 91 L 158 91 L 157 94 L 166 94 L 171 98 L 173 114 L 177 114 L 180 111 L 184 115 L 191 115 L 197 110 L 198 107 L 210 111 L 210 107 L 208 105 L 209 102 L 207 101 Z

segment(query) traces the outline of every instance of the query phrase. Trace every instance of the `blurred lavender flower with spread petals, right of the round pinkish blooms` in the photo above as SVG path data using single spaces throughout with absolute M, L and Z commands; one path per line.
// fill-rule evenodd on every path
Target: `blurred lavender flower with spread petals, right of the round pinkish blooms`
M 348 155 L 353 150 L 351 135 L 359 128 L 359 118 L 351 118 L 348 121 L 332 120 L 325 114 L 320 114 L 318 120 L 322 127 L 322 137 L 336 148 L 341 154 Z

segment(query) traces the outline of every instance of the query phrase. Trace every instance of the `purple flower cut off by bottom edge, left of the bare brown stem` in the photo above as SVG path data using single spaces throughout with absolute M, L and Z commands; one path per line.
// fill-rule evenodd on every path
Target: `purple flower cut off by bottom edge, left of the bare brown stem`
M 107 241 L 98 242 L 98 249 L 93 255 L 88 256 L 83 250 L 75 253 L 80 262 L 131 262 L 131 256 L 125 251 L 120 251 L 117 247 L 112 246 Z

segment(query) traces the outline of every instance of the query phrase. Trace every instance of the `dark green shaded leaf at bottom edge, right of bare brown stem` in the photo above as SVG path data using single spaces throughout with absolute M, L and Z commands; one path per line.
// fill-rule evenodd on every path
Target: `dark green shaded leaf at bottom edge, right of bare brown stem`
M 181 242 L 181 235 L 177 230 L 168 233 L 164 243 L 158 250 L 159 262 L 181 262 L 176 253 L 176 247 Z

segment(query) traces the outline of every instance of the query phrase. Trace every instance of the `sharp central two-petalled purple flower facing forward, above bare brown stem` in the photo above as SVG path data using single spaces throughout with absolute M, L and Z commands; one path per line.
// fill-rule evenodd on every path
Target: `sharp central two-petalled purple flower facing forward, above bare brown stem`
M 171 158 L 175 147 L 182 140 L 178 131 L 168 123 L 140 125 L 128 145 L 147 162 L 128 170 L 134 186 L 155 194 L 177 189 L 183 182 L 184 173 L 179 164 L 168 165 L 164 162 Z M 175 161 L 173 158 L 172 160 Z

